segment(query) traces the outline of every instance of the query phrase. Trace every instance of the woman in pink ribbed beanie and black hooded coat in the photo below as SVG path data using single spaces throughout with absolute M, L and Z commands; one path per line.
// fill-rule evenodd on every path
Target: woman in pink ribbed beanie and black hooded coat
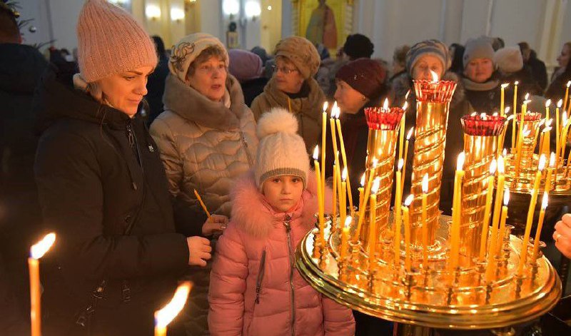
M 206 265 L 211 246 L 176 233 L 158 149 L 137 115 L 153 42 L 104 0 L 86 1 L 77 33 L 74 83 L 51 69 L 36 93 L 34 170 L 57 235 L 42 263 L 43 335 L 153 335 L 153 312 L 188 265 Z

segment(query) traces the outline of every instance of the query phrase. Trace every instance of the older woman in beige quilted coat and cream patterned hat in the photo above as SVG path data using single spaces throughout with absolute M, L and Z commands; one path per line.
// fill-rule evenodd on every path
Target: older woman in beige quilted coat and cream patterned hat
M 228 73 L 228 53 L 216 37 L 197 33 L 181 39 L 168 68 L 166 111 L 151 124 L 151 136 L 165 166 L 177 230 L 210 236 L 225 227 L 234 180 L 253 165 L 256 121 L 244 103 L 240 83 Z M 211 220 L 206 220 L 195 189 L 206 208 L 218 214 Z M 208 334 L 210 269 L 208 264 L 188 273 L 194 287 L 186 305 L 188 316 L 183 318 L 191 320 L 186 323 L 191 335 Z

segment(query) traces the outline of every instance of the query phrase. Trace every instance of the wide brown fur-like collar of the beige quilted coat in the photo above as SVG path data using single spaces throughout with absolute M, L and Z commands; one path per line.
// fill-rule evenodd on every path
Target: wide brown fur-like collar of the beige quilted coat
M 165 110 L 173 111 L 200 126 L 221 131 L 240 128 L 240 120 L 246 116 L 247 108 L 240 83 L 229 73 L 226 90 L 230 95 L 230 108 L 223 101 L 211 101 L 169 73 L 165 81 L 163 103 Z

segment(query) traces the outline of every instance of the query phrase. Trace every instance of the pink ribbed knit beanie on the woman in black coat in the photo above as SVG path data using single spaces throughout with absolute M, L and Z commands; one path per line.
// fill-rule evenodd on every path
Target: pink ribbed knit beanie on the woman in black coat
M 156 66 L 155 45 L 143 27 L 106 0 L 87 0 L 77 21 L 81 77 L 88 83 L 141 66 Z

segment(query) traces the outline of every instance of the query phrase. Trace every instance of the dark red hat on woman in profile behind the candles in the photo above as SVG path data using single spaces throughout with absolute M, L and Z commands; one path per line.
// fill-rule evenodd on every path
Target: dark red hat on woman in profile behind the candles
M 378 61 L 359 58 L 341 67 L 335 78 L 348 83 L 350 87 L 363 93 L 363 96 L 373 99 L 383 93 L 387 70 Z

